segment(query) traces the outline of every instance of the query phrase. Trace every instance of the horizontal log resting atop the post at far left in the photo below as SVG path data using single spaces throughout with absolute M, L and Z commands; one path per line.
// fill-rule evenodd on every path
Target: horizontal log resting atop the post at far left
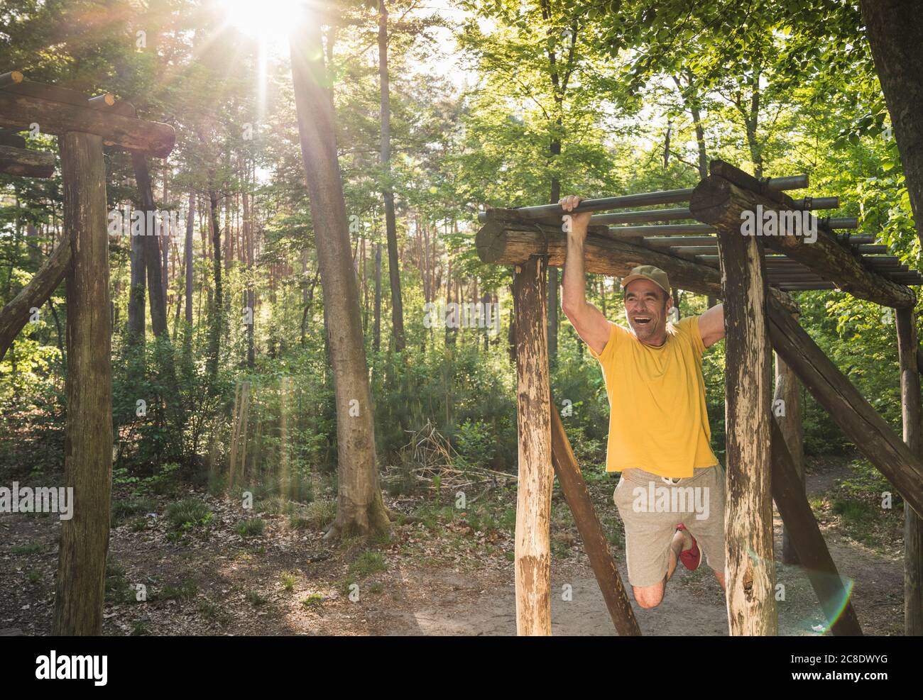
M 0 90 L 0 123 L 38 124 L 42 133 L 84 132 L 102 136 L 114 146 L 166 158 L 174 148 L 174 127 L 94 109 Z

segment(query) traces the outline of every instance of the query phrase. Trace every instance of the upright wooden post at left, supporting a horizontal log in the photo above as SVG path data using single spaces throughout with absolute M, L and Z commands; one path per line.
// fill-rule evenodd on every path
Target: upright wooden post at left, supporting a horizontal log
M 102 136 L 59 139 L 67 276 L 65 485 L 73 517 L 61 523 L 54 635 L 102 633 L 103 582 L 112 488 L 109 236 Z

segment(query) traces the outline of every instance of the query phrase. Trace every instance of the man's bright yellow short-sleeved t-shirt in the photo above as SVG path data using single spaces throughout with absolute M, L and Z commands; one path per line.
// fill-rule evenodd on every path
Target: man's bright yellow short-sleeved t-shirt
M 645 345 L 635 334 L 609 324 L 602 353 L 609 397 L 605 470 L 640 468 L 673 479 L 712 467 L 712 431 L 705 408 L 699 317 L 667 325 L 666 342 Z

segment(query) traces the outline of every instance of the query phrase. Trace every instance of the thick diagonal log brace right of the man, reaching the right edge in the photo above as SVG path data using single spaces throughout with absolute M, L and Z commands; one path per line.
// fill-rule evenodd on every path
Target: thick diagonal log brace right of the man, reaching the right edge
M 769 303 L 773 348 L 845 436 L 891 481 L 917 515 L 923 512 L 923 461 L 894 434 L 830 358 L 774 299 Z

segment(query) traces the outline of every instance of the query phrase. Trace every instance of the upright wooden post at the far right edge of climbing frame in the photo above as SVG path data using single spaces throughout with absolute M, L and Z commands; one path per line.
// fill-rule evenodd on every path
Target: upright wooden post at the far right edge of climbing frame
M 923 457 L 920 437 L 920 375 L 917 371 L 917 317 L 913 309 L 894 309 L 901 362 L 901 415 L 904 442 Z M 904 634 L 923 635 L 923 522 L 904 506 Z

